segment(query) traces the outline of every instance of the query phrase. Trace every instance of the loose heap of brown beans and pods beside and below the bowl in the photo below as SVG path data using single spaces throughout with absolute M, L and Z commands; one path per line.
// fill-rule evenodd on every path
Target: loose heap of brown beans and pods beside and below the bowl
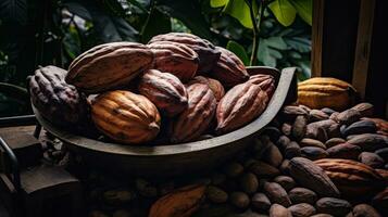
M 185 180 L 136 178 L 112 197 L 137 196 L 90 216 L 388 216 L 388 122 L 372 116 L 370 103 L 285 106 L 233 162 Z M 91 194 L 107 204 L 110 191 Z

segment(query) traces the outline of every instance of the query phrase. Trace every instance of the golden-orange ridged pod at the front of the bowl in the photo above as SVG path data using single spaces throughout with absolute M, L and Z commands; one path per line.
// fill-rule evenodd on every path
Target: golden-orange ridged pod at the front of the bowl
M 96 127 L 114 141 L 143 143 L 154 139 L 161 117 L 146 97 L 115 90 L 102 93 L 91 104 Z

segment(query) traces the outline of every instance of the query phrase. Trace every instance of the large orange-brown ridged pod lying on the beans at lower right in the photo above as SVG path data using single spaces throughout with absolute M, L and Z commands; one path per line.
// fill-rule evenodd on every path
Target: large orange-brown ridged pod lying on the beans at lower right
M 345 196 L 366 196 L 384 186 L 383 177 L 375 169 L 355 161 L 326 158 L 314 163 L 325 170 Z

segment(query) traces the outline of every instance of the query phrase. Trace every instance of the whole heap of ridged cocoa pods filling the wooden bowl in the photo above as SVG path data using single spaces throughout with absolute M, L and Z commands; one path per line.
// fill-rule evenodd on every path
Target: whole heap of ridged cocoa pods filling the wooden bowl
M 155 36 L 148 44 L 100 44 L 68 71 L 40 67 L 28 80 L 45 118 L 123 144 L 230 132 L 259 117 L 275 90 L 273 76 L 249 75 L 233 52 L 182 33 Z

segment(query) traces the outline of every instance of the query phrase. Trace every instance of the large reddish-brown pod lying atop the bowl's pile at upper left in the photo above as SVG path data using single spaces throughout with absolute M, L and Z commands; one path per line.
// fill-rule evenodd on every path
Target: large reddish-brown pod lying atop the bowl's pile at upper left
M 86 93 L 117 89 L 150 68 L 152 61 L 152 51 L 141 43 L 100 44 L 72 62 L 66 82 Z

